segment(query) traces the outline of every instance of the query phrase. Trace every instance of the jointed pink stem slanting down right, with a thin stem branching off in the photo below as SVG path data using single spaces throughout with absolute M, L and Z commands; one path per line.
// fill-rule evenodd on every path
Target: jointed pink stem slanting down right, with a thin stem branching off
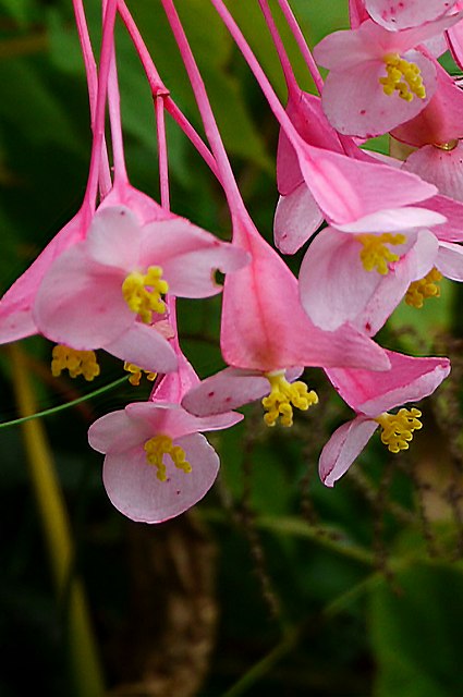
M 138 58 L 142 62 L 143 69 L 146 73 L 146 77 L 148 80 L 149 86 L 153 91 L 153 96 L 156 98 L 157 95 L 163 95 L 165 98 L 165 107 L 166 110 L 170 113 L 170 115 L 174 119 L 178 125 L 182 129 L 183 133 L 199 152 L 206 164 L 211 170 L 212 174 L 217 179 L 219 179 L 219 173 L 217 170 L 216 161 L 210 154 L 210 150 L 203 142 L 202 137 L 195 131 L 194 126 L 190 123 L 186 117 L 182 113 L 179 107 L 175 105 L 173 99 L 169 96 L 169 90 L 165 86 L 162 80 L 159 76 L 158 71 L 156 70 L 156 65 L 153 61 L 153 58 L 146 48 L 146 45 L 142 38 L 141 33 L 138 32 L 138 27 L 136 26 L 129 9 L 124 2 L 124 0 L 118 0 L 118 11 L 122 19 L 122 22 L 125 24 L 125 27 L 132 38 L 132 41 L 135 46 L 135 50 L 138 53 Z

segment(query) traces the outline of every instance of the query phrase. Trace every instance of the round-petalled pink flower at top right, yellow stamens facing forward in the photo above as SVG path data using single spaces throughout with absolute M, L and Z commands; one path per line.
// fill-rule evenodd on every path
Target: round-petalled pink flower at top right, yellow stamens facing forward
M 371 137 L 418 114 L 436 89 L 436 69 L 415 47 L 459 19 L 402 32 L 388 32 L 367 20 L 356 29 L 325 37 L 314 54 L 330 70 L 322 93 L 330 123 L 340 133 Z

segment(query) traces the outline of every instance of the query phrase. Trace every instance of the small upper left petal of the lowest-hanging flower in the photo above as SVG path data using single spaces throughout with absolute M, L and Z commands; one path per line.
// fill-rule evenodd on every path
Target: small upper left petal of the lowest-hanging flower
M 126 409 L 105 414 L 88 429 L 88 442 L 99 453 L 123 453 L 144 443 L 151 427 L 142 419 L 132 418 Z

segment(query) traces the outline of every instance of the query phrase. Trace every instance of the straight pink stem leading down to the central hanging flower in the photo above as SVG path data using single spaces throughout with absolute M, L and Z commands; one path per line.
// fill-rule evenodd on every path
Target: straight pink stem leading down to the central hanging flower
M 245 213 L 245 207 L 236 184 L 236 180 L 234 179 L 234 174 L 231 169 L 230 161 L 227 156 L 227 151 L 223 146 L 212 109 L 210 107 L 203 77 L 199 73 L 198 66 L 196 64 L 195 58 L 193 56 L 173 1 L 161 0 L 161 2 L 190 77 L 192 89 L 195 95 L 196 103 L 198 106 L 199 113 L 203 120 L 206 136 L 210 143 L 210 147 L 217 162 L 219 179 L 227 196 L 230 211 L 232 216 L 235 215 L 241 217 L 243 216 L 243 213 Z M 245 215 L 247 216 L 247 213 Z

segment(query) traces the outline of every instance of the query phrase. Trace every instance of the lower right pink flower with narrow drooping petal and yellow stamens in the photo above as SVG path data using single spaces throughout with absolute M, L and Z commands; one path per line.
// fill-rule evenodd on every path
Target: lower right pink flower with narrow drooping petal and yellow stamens
M 368 370 L 327 370 L 337 391 L 357 414 L 334 431 L 321 452 L 319 473 L 328 487 L 348 472 L 379 426 L 390 452 L 406 450 L 413 431 L 422 428 L 421 412 L 402 408 L 394 415 L 388 414 L 389 409 L 431 394 L 450 372 L 447 358 L 388 355 L 391 368 L 380 377 Z

